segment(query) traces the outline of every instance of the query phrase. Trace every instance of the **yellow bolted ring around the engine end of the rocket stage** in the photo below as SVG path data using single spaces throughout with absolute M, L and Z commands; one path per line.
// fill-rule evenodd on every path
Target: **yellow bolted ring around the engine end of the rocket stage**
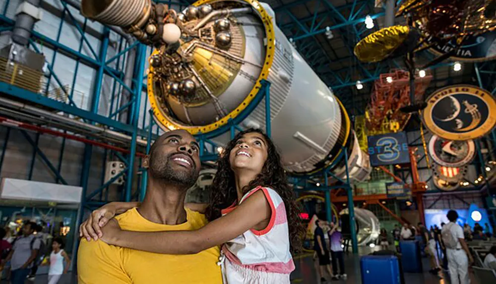
M 201 4 L 211 3 L 214 1 L 216 0 L 199 0 L 196 1 L 193 4 L 193 6 L 199 6 Z M 257 94 L 258 89 L 260 89 L 262 86 L 260 81 L 262 79 L 267 79 L 267 76 L 269 75 L 269 69 L 272 66 L 272 61 L 274 59 L 275 35 L 274 35 L 274 28 L 272 26 L 272 17 L 269 16 L 269 14 L 265 11 L 262 5 L 260 5 L 260 3 L 256 0 L 242 0 L 242 1 L 249 3 L 253 7 L 253 9 L 255 9 L 258 12 L 258 15 L 262 19 L 263 26 L 265 28 L 266 43 L 267 43 L 265 48 L 265 61 L 263 63 L 262 70 L 260 72 L 260 75 L 256 79 L 255 86 L 249 92 L 249 95 L 234 111 L 232 111 L 231 113 L 229 113 L 225 117 L 222 117 L 220 120 L 214 123 L 210 123 L 208 125 L 202 125 L 202 126 L 182 125 L 173 121 L 171 118 L 165 115 L 162 112 L 160 105 L 157 103 L 157 100 L 155 98 L 154 86 L 153 86 L 153 72 L 152 72 L 153 67 L 150 66 L 150 72 L 148 73 L 148 81 L 147 81 L 148 100 L 150 101 L 151 109 L 153 111 L 153 114 L 155 115 L 155 120 L 157 122 L 160 122 L 159 125 L 162 124 L 162 126 L 170 130 L 185 129 L 191 134 L 197 134 L 199 132 L 207 133 L 225 125 L 228 122 L 229 118 L 235 118 L 238 114 L 241 113 L 241 111 L 243 111 L 251 103 L 251 101 Z M 158 51 L 154 50 L 152 55 L 155 55 L 157 53 Z

